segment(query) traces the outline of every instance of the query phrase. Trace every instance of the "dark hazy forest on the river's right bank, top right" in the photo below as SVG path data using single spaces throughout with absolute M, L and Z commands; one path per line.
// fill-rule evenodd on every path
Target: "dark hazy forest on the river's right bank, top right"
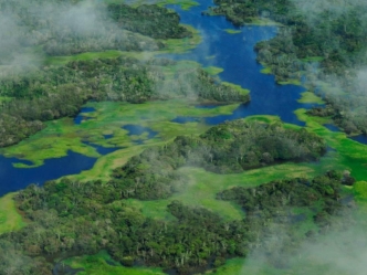
M 260 42 L 258 61 L 275 74 L 277 82 L 298 80 L 327 103 L 327 116 L 347 134 L 367 134 L 364 66 L 367 6 L 361 1 L 216 0 L 211 12 L 224 14 L 237 25 L 254 19 L 272 19 L 283 24 L 279 34 Z M 324 8 L 323 8 L 324 4 Z M 327 8 L 325 8 L 327 7 Z M 316 57 L 312 61 L 311 57 Z

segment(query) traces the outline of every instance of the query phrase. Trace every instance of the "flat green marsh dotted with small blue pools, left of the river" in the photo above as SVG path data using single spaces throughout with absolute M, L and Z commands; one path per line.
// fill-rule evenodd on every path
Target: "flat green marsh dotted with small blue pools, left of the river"
M 209 127 L 201 123 L 177 124 L 171 123 L 177 116 L 207 117 L 221 114 L 231 114 L 239 104 L 223 105 L 212 109 L 196 108 L 196 102 L 187 99 L 157 101 L 145 104 L 128 103 L 90 103 L 86 106 L 96 110 L 85 114 L 91 119 L 75 125 L 72 118 L 62 118 L 48 123 L 48 127 L 18 145 L 3 148 L 1 152 L 7 157 L 18 157 L 31 160 L 34 166 L 40 166 L 45 159 L 60 158 L 72 150 L 88 157 L 98 158 L 101 155 L 90 145 L 90 141 L 104 147 L 137 148 L 134 140 L 145 139 L 146 145 L 154 145 L 169 140 L 177 135 L 198 135 Z M 139 137 L 128 136 L 123 129 L 124 125 L 138 124 L 148 127 L 158 135 L 154 139 L 147 139 L 144 134 Z M 104 135 L 113 134 L 113 137 L 105 139 Z M 116 151 L 113 156 L 124 156 L 124 150 Z M 128 156 L 130 156 L 128 154 Z M 106 169 L 109 159 L 104 158 L 104 165 L 97 162 L 102 169 Z M 25 165 L 15 165 L 19 168 L 27 168 Z

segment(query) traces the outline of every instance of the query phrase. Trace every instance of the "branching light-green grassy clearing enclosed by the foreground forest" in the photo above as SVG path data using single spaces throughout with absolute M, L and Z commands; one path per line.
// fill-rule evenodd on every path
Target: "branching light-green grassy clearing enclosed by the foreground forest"
M 146 216 L 155 219 L 171 219 L 171 215 L 166 210 L 167 205 L 172 200 L 179 200 L 188 205 L 205 207 L 212 210 L 228 221 L 240 220 L 244 218 L 241 208 L 229 201 L 217 200 L 216 195 L 218 192 L 231 187 L 255 187 L 279 179 L 311 178 L 333 168 L 339 168 L 333 163 L 335 158 L 337 158 L 337 154 L 329 152 L 315 163 L 289 162 L 230 174 L 218 174 L 200 168 L 181 168 L 180 171 L 190 179 L 181 192 L 174 194 L 167 200 L 140 201 L 130 199 L 127 202 L 132 207 L 140 209 Z

